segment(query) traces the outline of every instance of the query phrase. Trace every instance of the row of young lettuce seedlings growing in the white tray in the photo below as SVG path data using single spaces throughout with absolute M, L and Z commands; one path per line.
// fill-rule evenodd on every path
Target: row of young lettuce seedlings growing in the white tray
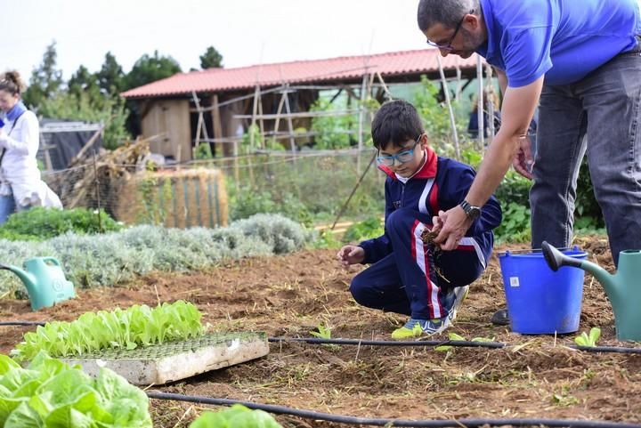
M 52 357 L 69 357 L 188 339 L 205 332 L 201 318 L 196 306 L 182 300 L 153 309 L 143 304 L 126 310 L 85 312 L 75 321 L 53 321 L 27 333 L 12 356 L 28 360 L 45 351 Z

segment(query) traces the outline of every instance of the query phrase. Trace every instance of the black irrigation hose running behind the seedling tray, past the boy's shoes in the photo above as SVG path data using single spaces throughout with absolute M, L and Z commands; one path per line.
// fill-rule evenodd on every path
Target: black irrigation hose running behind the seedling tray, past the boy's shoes
M 44 326 L 41 321 L 0 321 L 1 326 Z M 361 339 L 324 339 L 322 337 L 268 337 L 271 343 L 310 343 L 310 344 L 338 344 L 357 346 L 453 346 L 460 348 L 491 348 L 499 349 L 510 346 L 502 342 L 476 342 L 464 340 L 361 340 Z M 564 345 L 566 348 L 587 352 L 610 352 L 641 354 L 641 348 L 626 348 L 623 346 L 577 346 Z

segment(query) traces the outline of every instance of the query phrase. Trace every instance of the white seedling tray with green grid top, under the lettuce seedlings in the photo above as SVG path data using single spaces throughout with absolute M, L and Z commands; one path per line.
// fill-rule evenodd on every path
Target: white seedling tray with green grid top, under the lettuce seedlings
M 104 350 L 63 360 L 79 364 L 91 376 L 108 367 L 130 384 L 168 384 L 217 368 L 257 359 L 269 353 L 264 333 L 209 333 L 181 342 L 133 350 Z

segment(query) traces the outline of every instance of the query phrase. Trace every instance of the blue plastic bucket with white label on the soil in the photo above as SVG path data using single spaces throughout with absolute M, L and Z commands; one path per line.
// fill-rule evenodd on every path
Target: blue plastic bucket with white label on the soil
M 578 248 L 563 254 L 584 260 Z M 583 298 L 582 269 L 548 267 L 540 252 L 499 254 L 510 327 L 516 333 L 545 335 L 572 333 L 579 329 Z

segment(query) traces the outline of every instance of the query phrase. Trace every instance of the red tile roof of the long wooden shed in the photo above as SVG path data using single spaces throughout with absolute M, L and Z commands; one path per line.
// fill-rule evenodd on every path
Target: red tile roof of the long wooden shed
M 361 77 L 364 71 L 378 71 L 383 77 L 434 72 L 438 70 L 436 49 L 387 52 L 328 60 L 292 61 L 237 69 L 206 69 L 178 73 L 122 93 L 126 98 L 147 98 L 202 92 L 223 92 L 283 83 L 310 84 Z M 475 67 L 476 54 L 467 60 L 457 55 L 442 58 L 444 69 Z

